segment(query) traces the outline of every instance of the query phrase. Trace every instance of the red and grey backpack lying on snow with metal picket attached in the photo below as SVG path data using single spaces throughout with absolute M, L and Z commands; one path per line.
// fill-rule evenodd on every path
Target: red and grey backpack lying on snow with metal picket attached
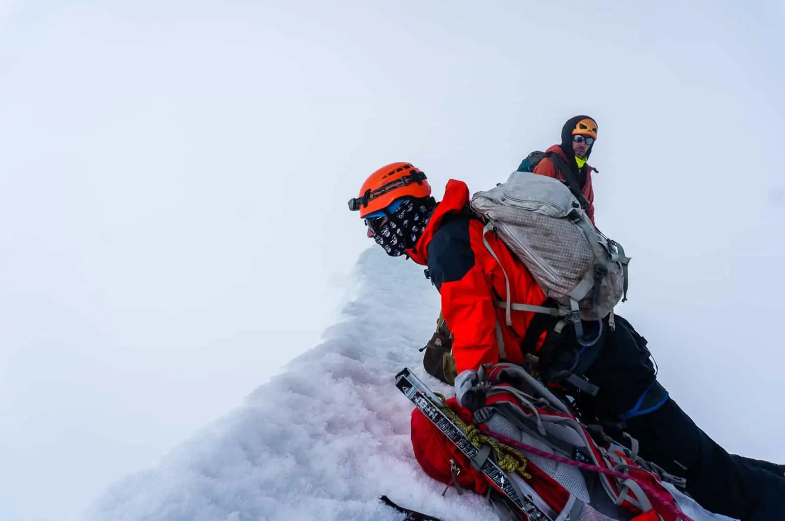
M 464 371 L 449 400 L 407 369 L 396 384 L 417 406 L 411 441 L 425 473 L 487 495 L 502 519 L 690 521 L 663 486 L 677 478 L 639 458 L 634 440 L 630 450 L 582 425 L 519 366 Z

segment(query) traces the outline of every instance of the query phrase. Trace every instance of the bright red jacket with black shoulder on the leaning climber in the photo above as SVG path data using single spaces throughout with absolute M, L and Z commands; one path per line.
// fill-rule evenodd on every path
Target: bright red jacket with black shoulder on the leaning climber
M 450 179 L 422 237 L 407 252 L 414 262 L 428 266 L 440 292 L 458 373 L 502 360 L 522 365 L 521 342 L 535 313 L 513 311 L 512 326 L 506 325 L 505 309 L 494 306 L 494 301 L 507 296 L 504 272 L 509 277 L 511 302 L 542 306 L 546 295 L 506 244 L 489 232 L 485 238 L 498 255 L 496 262 L 483 244 L 484 223 L 462 212 L 467 204 L 466 183 Z M 496 340 L 497 324 L 503 353 Z

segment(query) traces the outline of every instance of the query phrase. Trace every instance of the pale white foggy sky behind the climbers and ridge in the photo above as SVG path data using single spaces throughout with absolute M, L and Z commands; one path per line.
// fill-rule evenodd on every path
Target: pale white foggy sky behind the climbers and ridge
M 0 519 L 68 519 L 313 346 L 372 170 L 483 190 L 580 113 L 663 382 L 785 461 L 779 394 L 743 407 L 783 380 L 783 12 L 0 2 Z

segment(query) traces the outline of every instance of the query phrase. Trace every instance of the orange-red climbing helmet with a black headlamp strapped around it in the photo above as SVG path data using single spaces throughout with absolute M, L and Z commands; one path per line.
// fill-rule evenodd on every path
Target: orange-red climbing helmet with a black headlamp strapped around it
M 387 208 L 400 197 L 429 197 L 431 186 L 425 174 L 401 161 L 390 163 L 368 176 L 360 188 L 360 197 L 349 199 L 349 210 L 360 211 L 360 219 Z

